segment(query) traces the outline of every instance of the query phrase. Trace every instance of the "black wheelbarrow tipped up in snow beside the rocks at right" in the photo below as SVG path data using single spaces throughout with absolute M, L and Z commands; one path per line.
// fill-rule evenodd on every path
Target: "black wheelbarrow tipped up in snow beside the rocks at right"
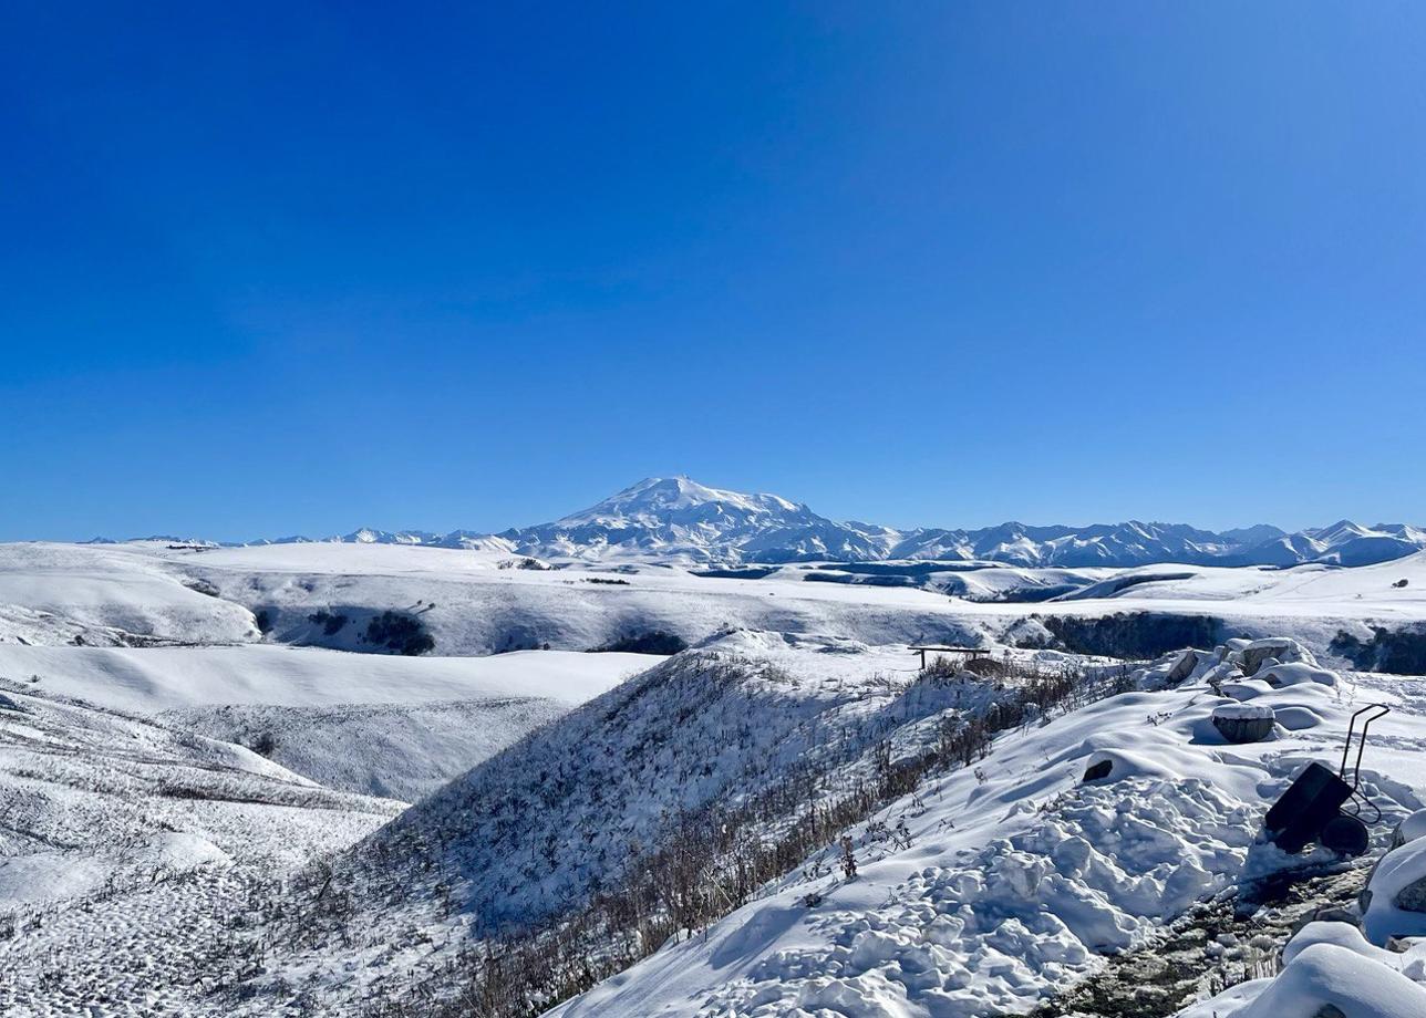
M 1286 853 L 1299 853 L 1309 841 L 1316 841 L 1339 855 L 1360 855 L 1366 851 L 1370 837 L 1362 821 L 1362 810 L 1366 807 L 1376 813 L 1372 823 L 1382 818 L 1382 811 L 1358 791 L 1362 784 L 1362 753 L 1366 750 L 1366 730 L 1390 710 L 1385 703 L 1370 703 L 1352 714 L 1346 746 L 1342 747 L 1342 766 L 1336 774 L 1316 761 L 1298 774 L 1263 820 L 1263 828 L 1275 845 Z M 1352 753 L 1358 719 L 1362 719 L 1362 731 L 1349 783 L 1346 761 Z

